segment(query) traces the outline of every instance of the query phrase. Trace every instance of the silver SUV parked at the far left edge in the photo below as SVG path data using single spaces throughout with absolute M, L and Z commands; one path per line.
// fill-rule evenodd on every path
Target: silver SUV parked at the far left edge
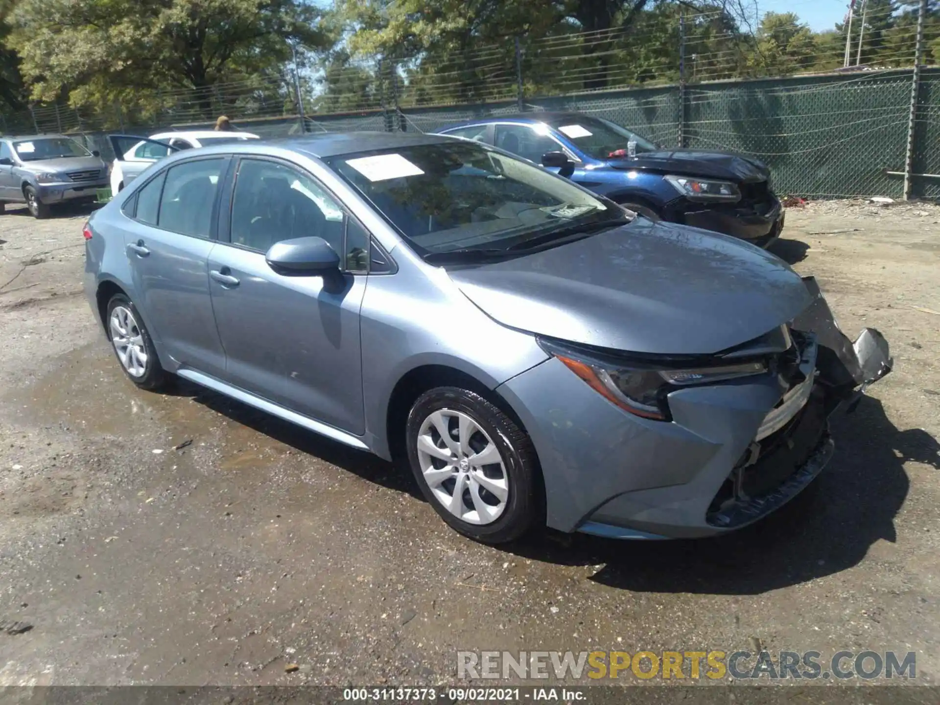
M 0 138 L 0 213 L 7 203 L 25 203 L 36 218 L 55 204 L 95 199 L 108 186 L 108 167 L 98 151 L 88 151 L 62 134 Z

